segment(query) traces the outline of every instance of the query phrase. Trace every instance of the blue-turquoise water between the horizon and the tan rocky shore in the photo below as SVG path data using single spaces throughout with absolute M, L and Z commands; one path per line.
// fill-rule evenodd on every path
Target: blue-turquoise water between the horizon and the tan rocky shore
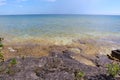
M 0 36 L 98 37 L 120 43 L 120 16 L 102 15 L 7 15 L 0 16 Z

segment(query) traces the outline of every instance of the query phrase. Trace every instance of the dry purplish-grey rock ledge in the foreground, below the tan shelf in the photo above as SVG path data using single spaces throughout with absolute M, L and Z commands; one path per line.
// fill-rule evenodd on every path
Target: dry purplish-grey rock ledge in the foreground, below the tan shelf
M 106 68 L 107 64 L 119 62 L 98 55 L 92 59 L 96 66 L 89 66 L 73 59 L 72 55 L 70 51 L 52 51 L 45 57 L 7 60 L 0 66 L 0 80 L 120 80 L 120 74 L 112 77 Z

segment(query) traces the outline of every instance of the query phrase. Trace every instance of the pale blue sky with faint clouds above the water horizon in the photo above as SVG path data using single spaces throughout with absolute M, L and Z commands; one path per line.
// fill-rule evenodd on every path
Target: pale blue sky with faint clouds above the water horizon
M 0 15 L 7 14 L 120 15 L 120 0 L 0 0 Z

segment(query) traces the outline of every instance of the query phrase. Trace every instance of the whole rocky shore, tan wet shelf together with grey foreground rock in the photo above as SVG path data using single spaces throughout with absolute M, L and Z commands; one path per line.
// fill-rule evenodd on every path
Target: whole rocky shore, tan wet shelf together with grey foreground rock
M 71 45 L 1 44 L 0 80 L 120 80 L 119 50 L 110 52 L 108 46 L 94 40 Z

